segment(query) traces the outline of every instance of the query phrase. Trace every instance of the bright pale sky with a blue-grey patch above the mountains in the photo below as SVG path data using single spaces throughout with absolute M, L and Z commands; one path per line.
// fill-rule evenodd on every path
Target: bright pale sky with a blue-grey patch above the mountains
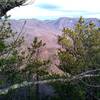
M 100 18 L 100 0 L 35 0 L 33 4 L 16 7 L 7 14 L 12 19 Z

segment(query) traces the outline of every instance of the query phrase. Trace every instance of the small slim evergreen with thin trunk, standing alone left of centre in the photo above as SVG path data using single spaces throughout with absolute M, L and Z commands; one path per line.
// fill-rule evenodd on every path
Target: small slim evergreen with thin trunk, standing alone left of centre
M 27 62 L 26 67 L 23 69 L 23 72 L 25 72 L 25 76 L 27 77 L 28 81 L 39 81 L 41 80 L 40 77 L 44 75 L 48 75 L 48 67 L 50 66 L 49 60 L 43 60 L 40 58 L 39 55 L 41 55 L 41 50 L 45 46 L 45 43 L 42 42 L 42 40 L 38 40 L 37 37 L 34 38 L 33 43 L 31 44 L 31 47 L 28 48 L 28 54 L 26 56 Z M 34 79 L 33 79 L 34 77 Z M 36 100 L 39 99 L 39 83 L 36 84 Z

